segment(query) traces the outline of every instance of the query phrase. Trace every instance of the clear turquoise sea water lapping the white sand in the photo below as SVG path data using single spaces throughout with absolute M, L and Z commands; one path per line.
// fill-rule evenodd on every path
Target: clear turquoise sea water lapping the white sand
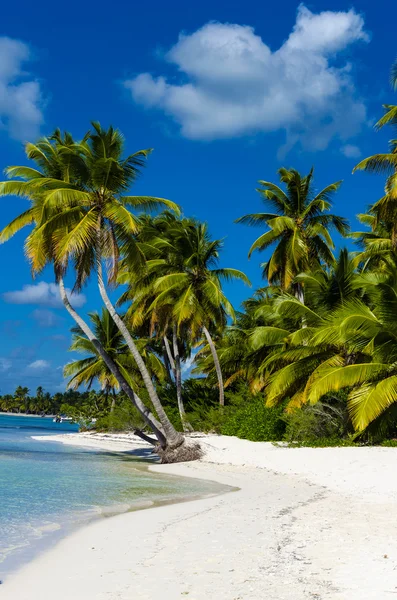
M 138 460 L 31 438 L 67 430 L 75 427 L 0 414 L 0 579 L 95 518 L 222 489 L 150 473 L 149 454 Z

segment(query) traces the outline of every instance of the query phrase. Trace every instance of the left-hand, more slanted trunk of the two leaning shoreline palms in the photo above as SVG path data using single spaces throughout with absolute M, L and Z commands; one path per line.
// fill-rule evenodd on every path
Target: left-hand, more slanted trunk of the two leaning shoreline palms
M 137 394 L 135 394 L 134 390 L 132 390 L 130 388 L 130 386 L 128 385 L 128 382 L 126 381 L 126 379 L 124 379 L 124 377 L 120 373 L 120 370 L 117 367 L 117 365 L 113 362 L 113 360 L 110 358 L 110 356 L 107 354 L 107 352 L 104 350 L 104 348 L 101 346 L 101 344 L 96 339 L 93 331 L 90 329 L 90 327 L 87 325 L 87 323 L 80 317 L 80 315 L 75 311 L 73 306 L 70 304 L 69 298 L 66 294 L 65 284 L 63 282 L 62 277 L 58 277 L 58 284 L 59 284 L 60 296 L 61 296 L 62 302 L 63 302 L 66 310 L 68 311 L 68 313 L 70 314 L 72 319 L 81 328 L 81 330 L 84 332 L 84 334 L 90 340 L 90 342 L 92 342 L 92 344 L 94 345 L 95 349 L 97 350 L 98 354 L 103 359 L 104 363 L 106 364 L 106 366 L 108 367 L 110 372 L 113 373 L 113 375 L 116 377 L 123 392 L 131 400 L 133 405 L 138 409 L 138 411 L 142 415 L 145 423 L 150 427 L 150 429 L 155 434 L 156 438 L 159 441 L 160 446 L 162 448 L 165 448 L 167 445 L 167 441 L 166 441 L 166 437 L 162 431 L 161 423 L 159 423 L 157 421 L 157 419 L 154 417 L 154 415 L 152 415 L 152 413 L 147 408 L 147 406 L 145 406 L 143 404 L 143 402 L 139 398 L 139 396 L 137 396 Z

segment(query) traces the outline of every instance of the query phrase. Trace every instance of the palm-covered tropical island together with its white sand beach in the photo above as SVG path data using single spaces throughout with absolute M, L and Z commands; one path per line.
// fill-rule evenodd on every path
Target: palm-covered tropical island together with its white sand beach
M 377 129 L 396 123 L 386 105 Z M 68 391 L 18 386 L 0 410 L 62 413 L 95 431 L 58 441 L 150 448 L 154 471 L 229 487 L 95 522 L 25 567 L 5 598 L 397 593 L 396 140 L 381 150 L 354 168 L 385 174 L 362 231 L 333 211 L 341 181 L 319 185 L 314 168 L 264 174 L 263 212 L 237 220 L 258 227 L 247 254 L 265 252 L 264 285 L 236 310 L 228 286 L 251 283 L 222 266 L 207 223 L 172 199 L 131 195 L 150 149 L 129 154 L 96 121 L 81 138 L 56 129 L 26 144 L 29 166 L 7 167 L 0 196 L 29 206 L 0 242 L 27 228 L 32 274 L 52 269 L 81 357 L 64 367 Z M 67 286 L 90 281 L 101 306 L 84 314 Z

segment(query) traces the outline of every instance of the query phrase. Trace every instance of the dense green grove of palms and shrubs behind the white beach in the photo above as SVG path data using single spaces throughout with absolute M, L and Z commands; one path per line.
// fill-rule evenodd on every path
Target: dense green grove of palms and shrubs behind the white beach
M 397 106 L 387 105 L 377 127 L 396 125 Z M 128 195 L 149 150 L 124 156 L 121 134 L 93 123 L 81 141 L 57 130 L 26 151 L 34 167 L 9 167 L 0 195 L 31 206 L 1 241 L 31 226 L 25 251 L 33 273 L 53 266 L 76 322 L 71 349 L 82 358 L 65 376 L 74 390 L 102 390 L 68 392 L 69 408 L 60 395 L 47 398 L 54 412 L 144 436 L 151 430 L 163 460 L 186 457 L 182 432 L 192 429 L 321 445 L 395 435 L 396 140 L 355 168 L 387 175 L 384 196 L 359 215 L 361 232 L 332 213 L 340 181 L 319 191 L 313 169 L 284 167 L 279 183 L 259 181 L 264 212 L 238 221 L 262 228 L 249 254 L 267 251 L 267 285 L 237 313 L 222 284 L 250 282 L 219 266 L 222 242 L 207 225 L 169 200 Z M 335 253 L 334 232 L 353 239 L 355 250 Z M 77 290 L 96 277 L 104 306 L 89 322 L 66 296 L 67 273 Z M 108 289 L 118 286 L 114 306 Z M 197 379 L 183 382 L 191 361 Z M 16 397 L 3 398 L 3 409 L 39 405 Z M 50 410 L 44 400 L 40 406 Z

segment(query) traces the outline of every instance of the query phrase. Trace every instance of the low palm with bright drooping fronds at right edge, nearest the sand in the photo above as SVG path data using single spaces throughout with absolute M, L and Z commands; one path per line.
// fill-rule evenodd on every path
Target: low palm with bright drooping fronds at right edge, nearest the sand
M 386 280 L 375 284 L 376 308 L 356 301 L 339 309 L 328 325 L 338 343 L 349 348 L 346 360 L 340 353 L 332 364 L 320 366 L 306 386 L 307 400 L 314 404 L 326 394 L 349 390 L 348 409 L 354 428 L 364 431 L 380 417 L 386 417 L 397 402 L 397 288 Z M 317 341 L 328 330 L 320 329 Z

